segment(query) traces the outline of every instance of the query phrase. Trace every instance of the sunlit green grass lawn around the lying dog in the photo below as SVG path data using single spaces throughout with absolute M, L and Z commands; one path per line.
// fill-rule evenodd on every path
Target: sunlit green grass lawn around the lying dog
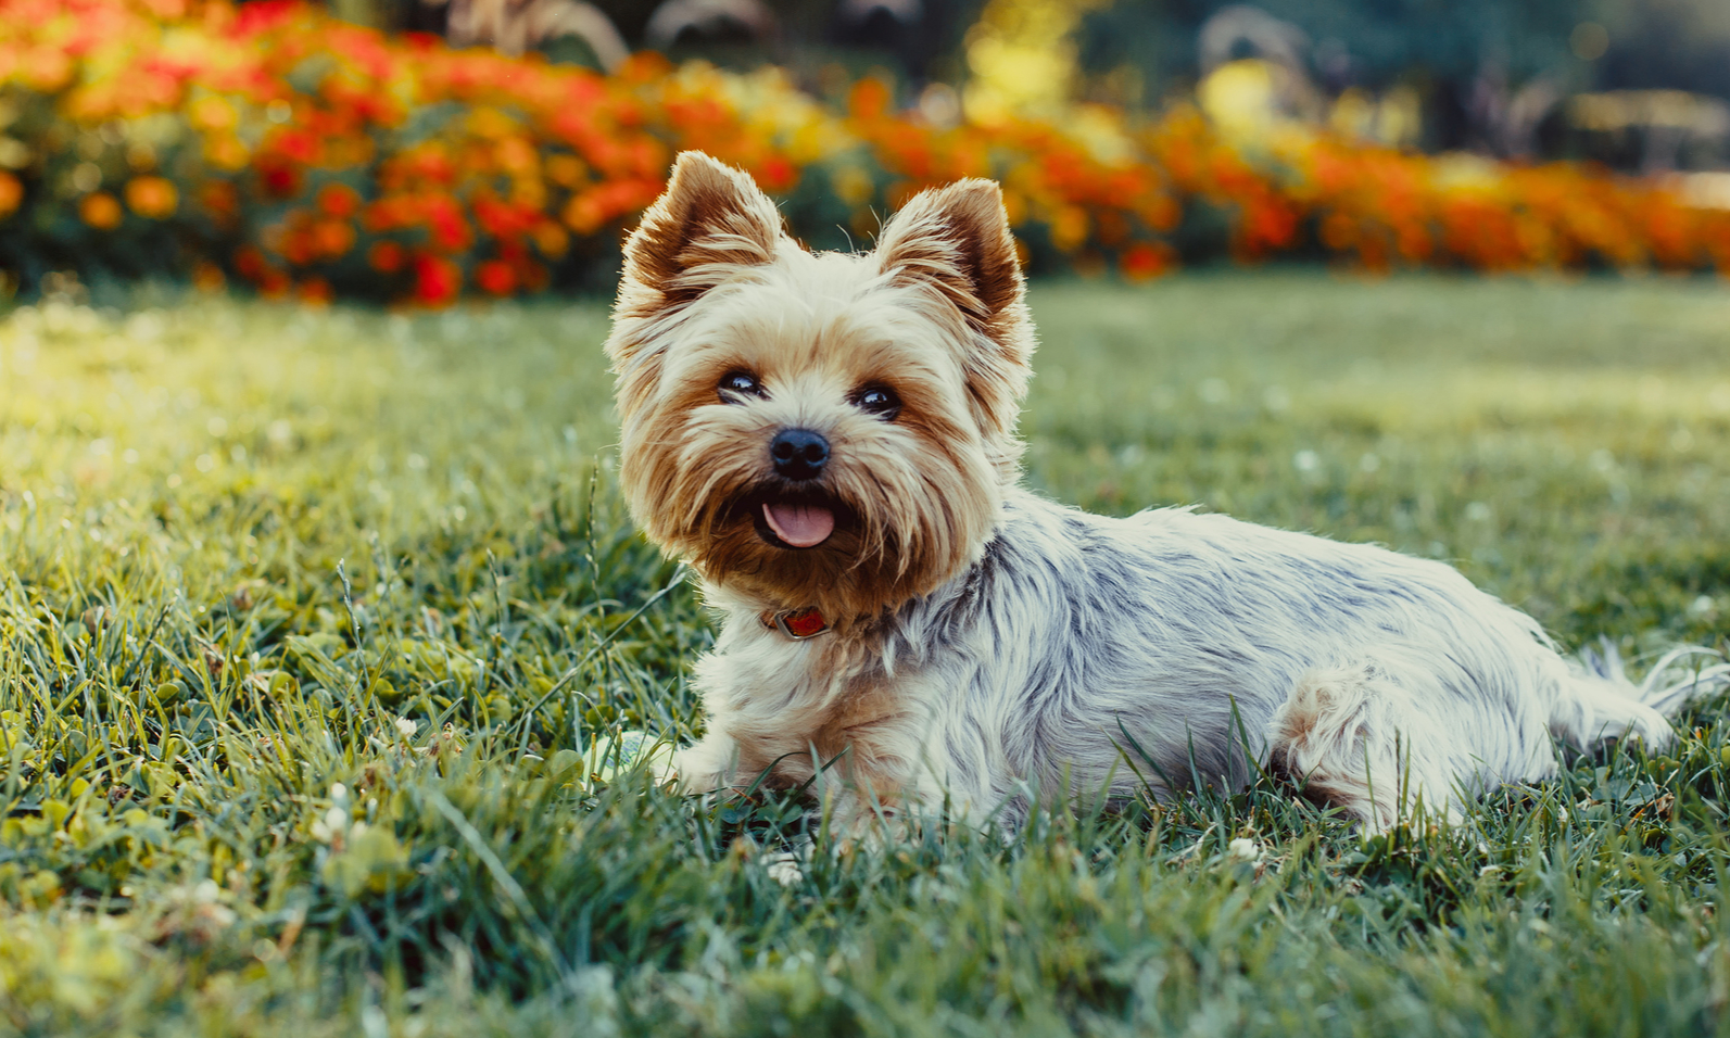
M 1214 275 L 1035 313 L 1057 498 L 1446 557 L 1571 645 L 1727 631 L 1721 284 Z M 604 330 L 0 318 L 0 1029 L 1730 1031 L 1721 704 L 1453 832 L 1362 843 L 1270 782 L 792 887 L 754 848 L 799 804 L 595 780 L 597 737 L 701 725 L 711 638 L 614 490 Z

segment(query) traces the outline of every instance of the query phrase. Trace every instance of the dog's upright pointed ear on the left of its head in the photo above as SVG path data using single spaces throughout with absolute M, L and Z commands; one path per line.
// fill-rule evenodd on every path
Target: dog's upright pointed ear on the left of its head
M 702 152 L 680 152 L 666 192 L 625 242 L 619 303 L 695 299 L 725 280 L 727 266 L 768 263 L 777 240 L 780 213 L 751 175 Z

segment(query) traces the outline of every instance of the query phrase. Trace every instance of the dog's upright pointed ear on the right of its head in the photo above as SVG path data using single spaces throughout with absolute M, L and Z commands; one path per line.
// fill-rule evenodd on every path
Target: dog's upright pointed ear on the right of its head
M 990 180 L 958 180 L 913 195 L 877 239 L 877 263 L 894 280 L 936 287 L 1003 344 L 1014 325 L 1026 324 L 1016 239 L 1003 192 Z

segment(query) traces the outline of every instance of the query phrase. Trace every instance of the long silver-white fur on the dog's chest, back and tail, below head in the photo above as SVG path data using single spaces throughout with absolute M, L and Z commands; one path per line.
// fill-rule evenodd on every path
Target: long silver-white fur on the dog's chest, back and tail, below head
M 1270 765 L 1372 829 L 1453 817 L 1498 784 L 1554 775 L 1557 742 L 1668 744 L 1659 706 L 1725 680 L 1716 666 L 1659 685 L 1683 654 L 1645 687 L 1614 656 L 1566 659 L 1441 562 L 1189 509 L 1092 516 L 1024 490 L 981 559 L 887 626 L 868 666 L 901 711 L 870 744 L 905 759 L 900 799 L 1007 825 L 1029 796 L 1230 791 Z M 699 664 L 711 737 L 680 772 L 725 773 L 742 714 L 798 716 L 844 694 L 811 670 L 820 659 L 753 607 L 728 611 Z M 789 728 L 794 758 L 810 753 L 798 739 Z

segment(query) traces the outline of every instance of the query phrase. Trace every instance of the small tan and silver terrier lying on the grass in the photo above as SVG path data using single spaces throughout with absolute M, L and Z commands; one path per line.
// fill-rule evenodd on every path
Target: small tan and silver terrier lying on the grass
M 633 517 L 721 628 L 714 791 L 820 780 L 841 832 L 1041 798 L 1284 773 L 1365 829 L 1458 818 L 1557 740 L 1671 742 L 1725 666 L 1633 685 L 1441 562 L 1192 509 L 1090 516 L 1021 486 L 1035 329 L 1002 192 L 908 201 L 810 253 L 742 171 L 678 156 L 625 246 L 607 356 Z M 1074 792 L 1066 792 L 1074 791 Z

